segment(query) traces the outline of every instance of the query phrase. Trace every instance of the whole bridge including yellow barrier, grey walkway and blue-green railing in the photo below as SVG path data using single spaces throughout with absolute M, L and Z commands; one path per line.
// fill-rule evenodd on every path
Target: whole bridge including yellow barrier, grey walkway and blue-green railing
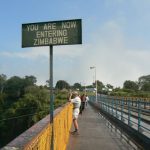
M 54 125 L 46 116 L 2 150 L 127 150 L 150 148 L 150 100 L 99 95 L 91 96 L 79 116 L 79 135 L 71 135 L 72 105 L 54 112 Z

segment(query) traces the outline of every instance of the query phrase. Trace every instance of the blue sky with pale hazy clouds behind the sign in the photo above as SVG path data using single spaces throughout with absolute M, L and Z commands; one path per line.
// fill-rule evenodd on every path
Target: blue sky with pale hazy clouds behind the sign
M 150 74 L 150 0 L 1 0 L 0 74 L 49 79 L 49 47 L 21 48 L 22 24 L 82 19 L 82 45 L 54 46 L 54 83 L 122 87 Z

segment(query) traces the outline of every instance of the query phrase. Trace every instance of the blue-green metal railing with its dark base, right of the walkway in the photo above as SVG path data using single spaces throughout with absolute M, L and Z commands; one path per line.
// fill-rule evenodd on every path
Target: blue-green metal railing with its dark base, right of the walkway
M 120 132 L 130 137 L 142 149 L 150 147 L 150 103 L 149 99 L 112 97 L 107 95 L 90 96 L 89 103 L 113 123 Z M 143 118 L 144 117 L 144 118 Z

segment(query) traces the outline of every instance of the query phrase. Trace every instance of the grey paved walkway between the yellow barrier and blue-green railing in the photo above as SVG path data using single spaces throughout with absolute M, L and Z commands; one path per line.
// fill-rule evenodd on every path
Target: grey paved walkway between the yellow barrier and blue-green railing
M 132 150 L 130 141 L 126 142 L 108 121 L 88 106 L 79 116 L 79 135 L 71 135 L 67 150 Z M 73 130 L 73 127 L 72 127 Z

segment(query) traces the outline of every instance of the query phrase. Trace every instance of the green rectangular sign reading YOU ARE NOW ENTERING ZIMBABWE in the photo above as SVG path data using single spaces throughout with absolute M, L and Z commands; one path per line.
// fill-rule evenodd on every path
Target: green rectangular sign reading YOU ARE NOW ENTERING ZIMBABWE
M 81 19 L 22 24 L 22 47 L 82 44 Z

